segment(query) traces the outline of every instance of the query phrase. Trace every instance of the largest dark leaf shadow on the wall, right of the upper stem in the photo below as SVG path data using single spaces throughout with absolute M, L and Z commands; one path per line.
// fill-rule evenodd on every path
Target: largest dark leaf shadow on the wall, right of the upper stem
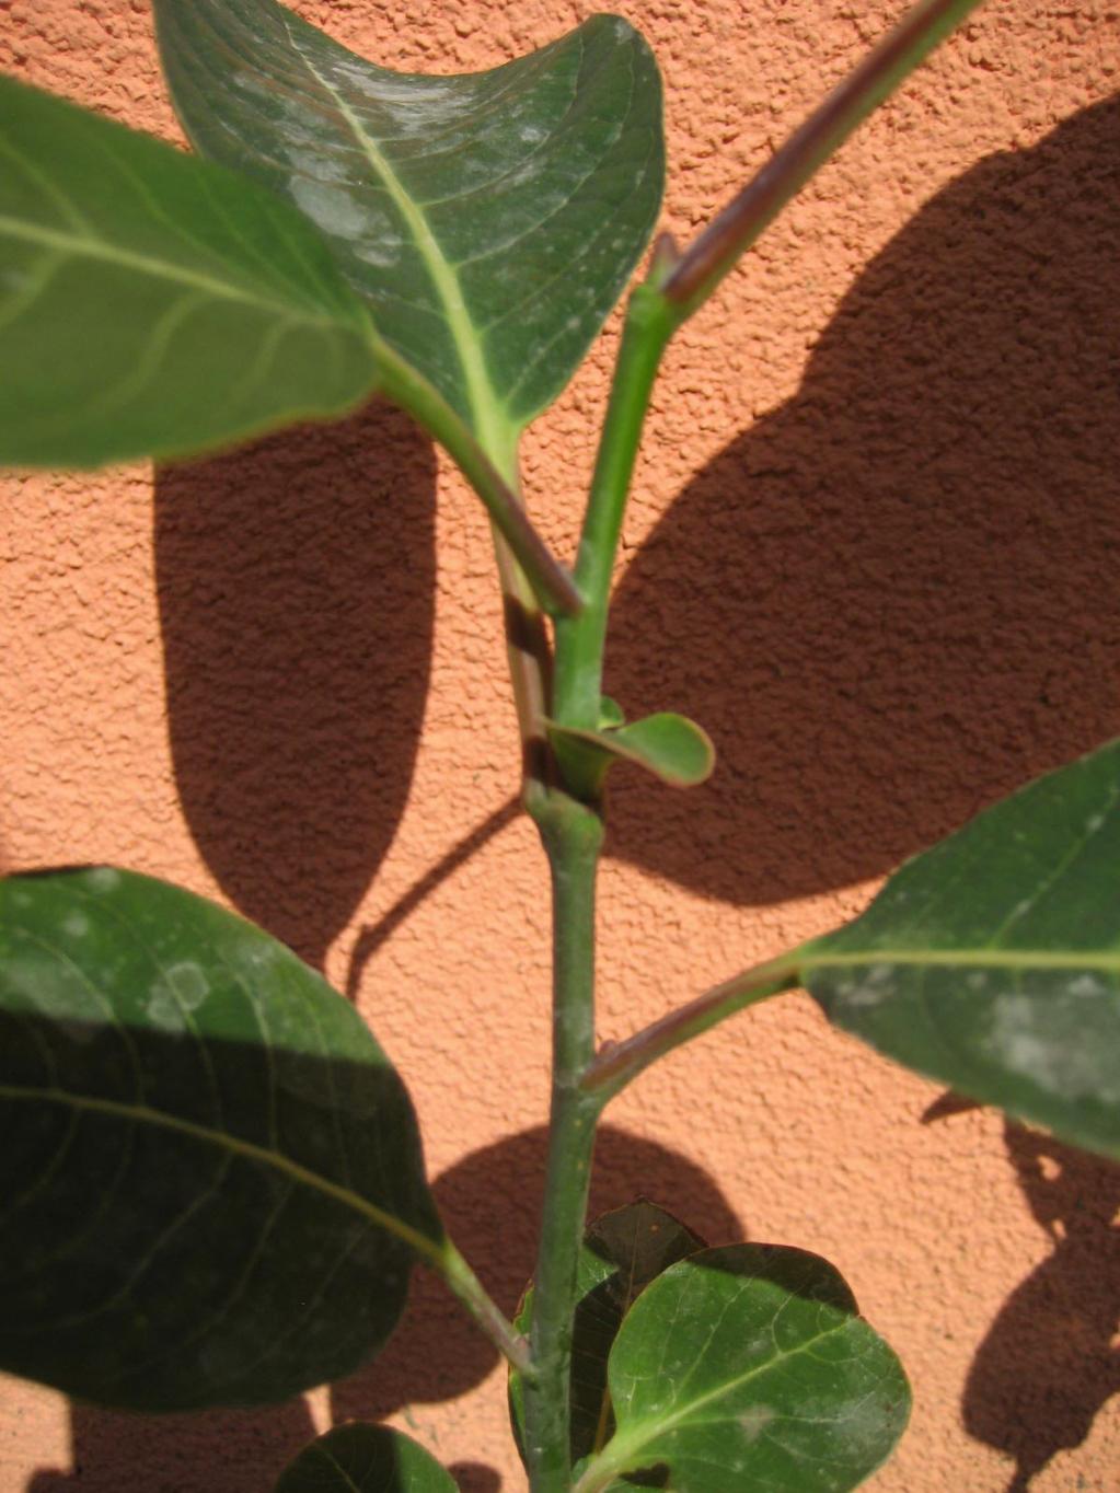
M 1120 732 L 1119 239 L 1113 100 L 927 202 L 676 499 L 606 688 L 720 761 L 620 775 L 615 855 L 736 905 L 848 885 Z

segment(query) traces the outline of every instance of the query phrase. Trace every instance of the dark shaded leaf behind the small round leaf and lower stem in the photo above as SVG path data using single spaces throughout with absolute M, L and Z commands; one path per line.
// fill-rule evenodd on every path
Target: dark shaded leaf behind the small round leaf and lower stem
M 662 1271 L 703 1248 L 691 1229 L 645 1197 L 597 1218 L 578 1259 L 572 1329 L 572 1460 L 597 1451 L 614 1417 L 606 1391 L 606 1360 L 618 1327 L 639 1291 Z M 524 1336 L 533 1321 L 533 1290 L 526 1291 L 514 1326 Z M 509 1414 L 518 1447 L 524 1444 L 524 1387 L 509 1375 Z

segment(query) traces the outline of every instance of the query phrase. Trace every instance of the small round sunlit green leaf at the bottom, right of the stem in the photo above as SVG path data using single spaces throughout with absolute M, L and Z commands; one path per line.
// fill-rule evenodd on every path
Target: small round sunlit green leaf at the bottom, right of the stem
M 844 1493 L 909 1414 L 902 1366 L 838 1272 L 741 1244 L 673 1265 L 626 1317 L 609 1365 L 618 1430 L 576 1493 L 668 1469 L 673 1493 Z M 653 1478 L 651 1478 L 653 1481 Z

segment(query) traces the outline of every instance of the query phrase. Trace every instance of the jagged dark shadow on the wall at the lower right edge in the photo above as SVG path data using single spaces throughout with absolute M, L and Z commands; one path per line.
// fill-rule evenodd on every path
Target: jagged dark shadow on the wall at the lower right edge
M 1004 1135 L 1053 1253 L 1001 1306 L 962 1403 L 968 1433 L 1014 1457 L 1007 1493 L 1026 1493 L 1120 1391 L 1120 1166 L 1011 1121 Z

